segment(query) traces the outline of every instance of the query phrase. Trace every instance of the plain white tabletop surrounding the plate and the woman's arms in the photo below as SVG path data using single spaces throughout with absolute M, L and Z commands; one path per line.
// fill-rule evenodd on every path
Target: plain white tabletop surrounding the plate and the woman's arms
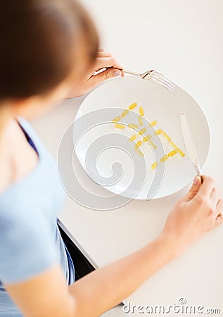
M 160 70 L 199 102 L 211 130 L 210 155 L 203 172 L 223 188 L 222 1 L 83 2 L 96 20 L 102 46 L 113 51 L 125 68 Z M 53 156 L 83 99 L 63 101 L 32 122 Z M 101 267 L 151 242 L 185 192 L 156 201 L 131 201 L 106 212 L 85 209 L 68 198 L 60 221 L 92 263 Z M 223 229 L 217 228 L 153 275 L 125 302 L 167 306 L 179 304 L 179 298 L 184 297 L 188 304 L 220 308 L 223 313 L 222 247 Z M 117 308 L 105 316 L 124 315 Z

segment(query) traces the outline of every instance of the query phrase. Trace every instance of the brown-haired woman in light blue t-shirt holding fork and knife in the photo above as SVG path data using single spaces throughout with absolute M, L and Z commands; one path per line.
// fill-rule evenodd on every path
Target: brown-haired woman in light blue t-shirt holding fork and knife
M 0 0 L 0 39 L 0 316 L 99 316 L 223 223 L 219 189 L 196 177 L 151 244 L 75 282 L 56 223 L 56 165 L 24 118 L 122 75 L 122 66 L 98 51 L 75 0 Z

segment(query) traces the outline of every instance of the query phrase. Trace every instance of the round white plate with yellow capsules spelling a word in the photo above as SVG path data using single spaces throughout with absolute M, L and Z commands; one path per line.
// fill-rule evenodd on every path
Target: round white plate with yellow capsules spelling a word
M 77 158 L 94 182 L 114 194 L 135 199 L 157 199 L 174 194 L 188 185 L 196 173 L 188 155 L 182 157 L 176 154 L 165 163 L 158 163 L 158 168 L 152 170 L 151 164 L 155 161 L 155 157 L 160 160 L 162 151 L 168 153 L 172 150 L 167 140 L 162 135 L 160 137 L 153 135 L 153 128 L 148 128 L 148 123 L 145 122 L 140 129 L 144 126 L 147 128 L 146 135 L 153 135 L 153 142 L 158 148 L 151 150 L 147 142 L 142 142 L 141 151 L 144 152 L 144 157 L 141 157 L 134 149 L 134 142 L 128 140 L 129 136 L 138 135 L 135 130 L 128 127 L 119 130 L 113 123 L 105 123 L 119 116 L 134 102 L 138 103 L 137 108 L 122 121 L 139 123 L 139 106 L 144 106 L 145 120 L 149 122 L 157 120 L 158 123 L 154 128 L 165 130 L 185 154 L 180 114 L 186 113 L 200 166 L 203 167 L 210 148 L 210 130 L 196 100 L 178 86 L 171 92 L 155 82 L 141 80 L 140 77 L 135 76 L 109 80 L 91 92 L 83 101 L 75 123 L 80 118 L 83 120 L 79 120 L 76 128 L 74 125 L 74 134 L 77 134 L 78 127 L 84 129 L 82 137 L 77 143 L 75 142 Z M 90 126 L 91 128 L 87 130 Z M 137 136 L 136 141 L 139 138 L 142 139 Z M 121 166 L 113 165 L 115 162 L 119 162 Z

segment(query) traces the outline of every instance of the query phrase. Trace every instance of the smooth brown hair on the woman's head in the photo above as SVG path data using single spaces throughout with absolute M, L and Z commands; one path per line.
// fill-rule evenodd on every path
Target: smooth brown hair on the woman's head
M 74 67 L 83 38 L 94 61 L 96 29 L 76 0 L 0 0 L 0 99 L 56 87 Z

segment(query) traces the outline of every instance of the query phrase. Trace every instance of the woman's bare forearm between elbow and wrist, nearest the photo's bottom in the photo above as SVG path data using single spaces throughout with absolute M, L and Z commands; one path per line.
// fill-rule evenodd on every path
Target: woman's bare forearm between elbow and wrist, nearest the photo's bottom
M 93 271 L 70 285 L 70 294 L 79 308 L 77 316 L 101 316 L 101 313 L 120 304 L 177 256 L 174 244 L 171 238 L 160 236 L 134 254 Z

